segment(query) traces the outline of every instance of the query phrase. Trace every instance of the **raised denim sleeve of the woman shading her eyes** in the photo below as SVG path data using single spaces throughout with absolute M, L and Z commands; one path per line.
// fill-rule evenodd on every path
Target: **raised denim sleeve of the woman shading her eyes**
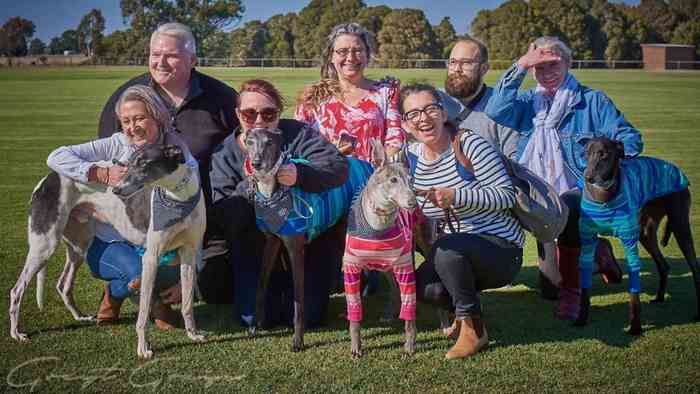
M 512 65 L 494 87 L 484 110 L 496 123 L 520 132 L 532 129 L 534 116 L 530 95 L 518 94 L 525 75 L 526 69 Z

